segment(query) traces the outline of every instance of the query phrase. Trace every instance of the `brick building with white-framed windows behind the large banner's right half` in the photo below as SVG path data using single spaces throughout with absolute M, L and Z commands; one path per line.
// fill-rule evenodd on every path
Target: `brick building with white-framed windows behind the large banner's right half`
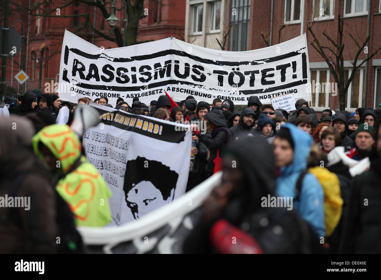
M 218 15 L 216 11 L 219 12 Z M 338 42 L 339 16 L 344 19 L 343 55 L 345 76 L 348 77 L 352 71 L 351 62 L 358 50 L 349 33 L 360 45 L 365 42 L 368 21 L 367 0 L 187 0 L 185 38 L 189 43 L 221 49 L 216 43 L 216 38 L 223 42 L 225 35 L 229 33 L 226 36 L 224 49 L 247 51 L 264 48 L 267 44 L 282 43 L 299 36 L 303 22 L 303 32 L 307 34 L 311 82 L 314 89 L 311 107 L 321 112 L 323 109 L 337 109 L 339 95 L 332 92 L 335 88 L 332 90 L 325 86 L 318 87 L 316 91 L 313 81 L 320 85 L 335 81 L 327 63 L 310 45 L 313 38 L 307 27 L 312 24 L 312 30 L 322 42 L 325 40 L 323 32 Z M 381 47 L 379 35 L 381 0 L 371 2 L 370 16 L 369 54 Z M 216 21 L 219 21 L 218 24 Z M 361 53 L 358 63 L 365 57 L 366 54 Z M 365 81 L 365 64 L 354 74 L 346 97 L 346 110 L 349 112 L 354 112 L 361 106 L 378 107 L 381 103 L 381 51 L 368 62 L 367 74 Z

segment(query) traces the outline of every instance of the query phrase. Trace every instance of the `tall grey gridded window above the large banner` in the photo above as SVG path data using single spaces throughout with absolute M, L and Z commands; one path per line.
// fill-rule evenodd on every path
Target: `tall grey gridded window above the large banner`
M 230 51 L 247 51 L 249 41 L 250 0 L 231 1 Z

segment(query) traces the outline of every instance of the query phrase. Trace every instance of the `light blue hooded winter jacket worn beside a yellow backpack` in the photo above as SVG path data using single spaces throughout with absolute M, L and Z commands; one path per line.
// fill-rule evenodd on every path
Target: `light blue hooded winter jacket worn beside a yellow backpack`
M 290 130 L 294 141 L 294 159 L 290 165 L 280 168 L 276 191 L 280 197 L 295 197 L 296 181 L 307 168 L 312 137 L 291 123 L 286 123 L 285 127 Z M 307 173 L 304 176 L 299 199 L 293 201 L 293 208 L 311 224 L 318 237 L 325 236 L 324 192 L 313 174 Z

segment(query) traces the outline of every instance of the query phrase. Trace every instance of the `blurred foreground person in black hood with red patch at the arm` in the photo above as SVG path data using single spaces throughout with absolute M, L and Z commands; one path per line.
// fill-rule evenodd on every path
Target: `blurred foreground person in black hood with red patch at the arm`
M 275 197 L 276 186 L 274 155 L 264 138 L 234 142 L 222 170 L 221 184 L 198 209 L 201 217 L 184 240 L 182 253 L 322 252 L 295 210 L 264 203 L 264 198 Z

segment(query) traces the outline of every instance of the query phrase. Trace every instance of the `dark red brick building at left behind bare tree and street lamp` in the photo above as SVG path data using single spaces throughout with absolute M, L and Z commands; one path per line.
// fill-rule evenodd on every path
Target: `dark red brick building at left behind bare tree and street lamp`
M 130 1 L 130 0 L 128 0 Z M 18 5 L 11 2 L 10 4 L 10 18 L 9 26 L 13 25 L 16 19 L 21 19 L 25 24 L 25 40 L 24 40 L 24 69 L 26 69 L 29 80 L 26 83 L 26 90 L 34 88 L 45 89 L 44 84 L 46 82 L 55 81 L 59 74 L 59 64 L 61 58 L 61 45 L 64 35 L 64 30 L 67 29 L 70 32 L 78 30 L 81 26 L 85 25 L 85 18 L 81 17 L 44 17 L 36 16 L 34 14 L 38 11 L 32 12 L 28 17 L 28 10 L 22 10 L 19 5 L 28 6 L 28 1 L 17 1 Z M 34 3 L 34 1 L 31 1 Z M 54 3 L 54 4 L 53 4 Z M 62 6 L 64 1 L 49 1 L 48 6 L 44 8 L 54 10 L 57 6 Z M 159 40 L 167 37 L 176 37 L 181 39 L 184 37 L 184 14 L 185 14 L 185 2 L 176 0 L 145 0 L 144 12 L 147 13 L 147 17 L 139 21 L 138 29 L 138 42 L 145 42 L 150 40 Z M 115 15 L 119 19 L 117 25 L 121 29 L 123 35 L 123 19 L 124 19 L 124 4 L 123 1 L 115 2 L 115 8 L 117 10 Z M 62 8 L 51 14 L 60 15 L 74 15 L 74 14 L 89 14 L 91 24 L 103 32 L 104 34 L 114 37 L 114 32 L 110 33 L 111 26 L 106 21 L 106 18 L 102 15 L 99 8 L 96 8 L 94 13 L 94 7 L 86 4 L 74 2 L 69 6 Z M 107 7 L 107 12 L 111 13 L 111 5 Z M 3 15 L 1 15 L 3 18 Z M 28 25 L 28 22 L 30 24 Z M 0 24 L 3 25 L 3 22 Z M 21 34 L 21 23 L 16 22 L 15 29 Z M 27 40 L 27 34 L 29 30 L 29 42 Z M 88 28 L 81 29 L 78 36 L 85 39 L 88 42 L 93 43 L 96 46 L 104 46 L 104 48 L 117 48 L 117 44 L 106 40 L 105 38 L 93 34 Z M 20 54 L 16 54 L 13 59 L 7 59 L 7 86 L 12 85 L 18 92 L 20 88 L 18 82 L 14 79 L 14 75 L 19 72 Z M 42 61 L 42 64 L 41 64 Z M 40 81 L 40 77 L 42 77 Z M 39 86 L 41 85 L 41 86 Z

